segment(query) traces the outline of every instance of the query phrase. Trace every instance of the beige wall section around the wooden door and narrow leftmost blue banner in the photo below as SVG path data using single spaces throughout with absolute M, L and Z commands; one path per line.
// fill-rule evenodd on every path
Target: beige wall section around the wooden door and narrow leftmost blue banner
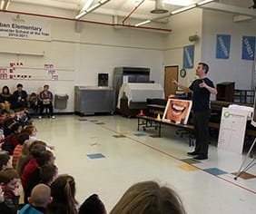
M 170 17 L 172 33 L 165 41 L 164 65 L 178 65 L 182 69 L 183 46 L 195 45 L 194 65 L 201 61 L 202 9 L 192 9 Z M 197 34 L 199 40 L 189 41 L 189 36 Z M 187 69 L 185 78 L 179 76 L 179 82 L 188 85 L 195 79 L 194 68 Z

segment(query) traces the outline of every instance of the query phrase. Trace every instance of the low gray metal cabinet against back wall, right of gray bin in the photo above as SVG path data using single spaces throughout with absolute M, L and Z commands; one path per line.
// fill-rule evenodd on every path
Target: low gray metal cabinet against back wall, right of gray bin
M 90 115 L 96 112 L 114 112 L 113 88 L 74 86 L 74 112 Z

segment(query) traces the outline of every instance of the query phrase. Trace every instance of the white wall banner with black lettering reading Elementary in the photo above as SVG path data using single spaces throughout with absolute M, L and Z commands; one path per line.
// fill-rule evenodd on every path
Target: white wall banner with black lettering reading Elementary
M 0 13 L 0 36 L 50 41 L 51 21 L 30 15 Z

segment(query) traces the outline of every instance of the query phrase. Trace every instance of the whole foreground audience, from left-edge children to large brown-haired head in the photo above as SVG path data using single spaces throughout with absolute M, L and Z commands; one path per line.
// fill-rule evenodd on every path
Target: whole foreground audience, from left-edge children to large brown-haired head
M 8 134 L 0 143 L 0 213 L 106 214 L 96 194 L 79 206 L 74 177 L 58 175 L 54 147 L 36 138 L 33 124 L 19 123 L 15 117 L 14 112 L 0 113 L 0 124 Z M 154 181 L 143 181 L 128 189 L 110 211 L 110 214 L 133 213 L 185 214 L 185 210 L 173 190 Z

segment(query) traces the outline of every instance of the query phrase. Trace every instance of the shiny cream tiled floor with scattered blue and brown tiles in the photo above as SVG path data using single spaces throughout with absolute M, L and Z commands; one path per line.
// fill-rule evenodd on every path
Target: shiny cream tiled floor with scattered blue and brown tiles
M 137 120 L 119 115 L 57 116 L 35 120 L 38 138 L 55 146 L 60 173 L 76 181 L 82 202 L 98 193 L 108 211 L 133 183 L 156 180 L 181 195 L 189 214 L 256 213 L 256 166 L 251 179 L 234 180 L 244 156 L 210 146 L 209 160 L 192 161 L 188 139 L 171 126 L 137 131 Z M 142 134 L 141 134 L 142 133 Z M 90 157 L 91 156 L 91 157 Z

